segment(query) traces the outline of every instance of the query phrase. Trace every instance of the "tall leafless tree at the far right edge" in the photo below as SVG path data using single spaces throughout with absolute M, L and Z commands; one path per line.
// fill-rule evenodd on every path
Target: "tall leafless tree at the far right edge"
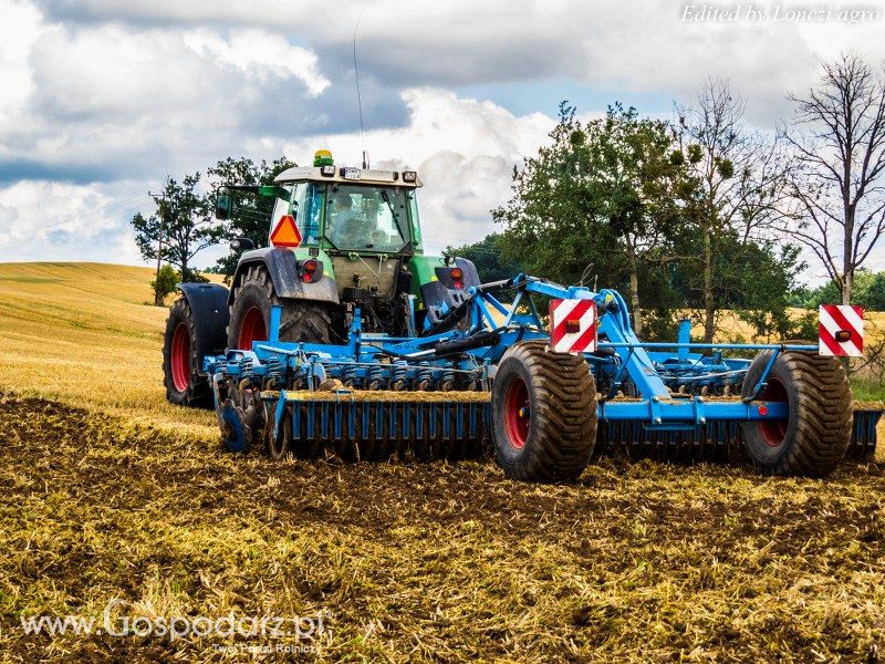
M 855 273 L 885 232 L 885 69 L 843 54 L 823 63 L 796 105 L 798 155 L 787 230 L 808 247 L 851 303 Z

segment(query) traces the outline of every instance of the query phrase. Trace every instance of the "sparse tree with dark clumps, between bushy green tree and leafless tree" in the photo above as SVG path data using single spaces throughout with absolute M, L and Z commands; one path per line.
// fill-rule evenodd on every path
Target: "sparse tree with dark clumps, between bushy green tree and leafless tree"
M 726 81 L 710 80 L 695 106 L 680 110 L 675 127 L 687 170 L 679 191 L 687 226 L 677 253 L 695 263 L 691 281 L 701 293 L 705 343 L 714 340 L 722 307 L 717 292 L 739 283 L 733 270 L 721 268 L 766 246 L 788 191 L 789 159 L 778 144 L 747 129 L 743 110 Z M 760 300 L 757 309 L 764 308 Z

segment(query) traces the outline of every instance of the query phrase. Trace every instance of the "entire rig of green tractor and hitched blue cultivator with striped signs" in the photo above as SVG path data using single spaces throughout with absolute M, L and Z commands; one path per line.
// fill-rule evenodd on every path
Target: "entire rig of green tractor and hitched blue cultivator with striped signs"
M 772 474 L 823 475 L 845 454 L 847 378 L 818 345 L 693 344 L 687 323 L 673 344 L 643 343 L 615 291 L 524 274 L 482 283 L 469 260 L 424 252 L 420 186 L 413 170 L 337 167 L 320 151 L 272 186 L 220 189 L 222 219 L 259 209 L 242 196 L 271 199 L 271 246 L 235 242 L 230 291 L 180 286 L 168 400 L 215 407 L 235 450 L 454 459 L 491 440 L 504 470 L 530 480 L 577 477 L 597 438 L 741 440 Z M 836 309 L 822 313 L 821 347 L 860 352 L 858 312 Z M 747 351 L 759 354 L 727 356 Z M 855 434 L 874 436 L 876 416 Z

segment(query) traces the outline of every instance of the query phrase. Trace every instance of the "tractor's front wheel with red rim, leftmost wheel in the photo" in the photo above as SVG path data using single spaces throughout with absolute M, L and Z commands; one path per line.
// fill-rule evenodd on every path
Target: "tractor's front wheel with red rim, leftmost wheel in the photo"
M 179 298 L 169 309 L 163 338 L 166 398 L 178 406 L 212 408 L 212 388 L 208 376 L 200 375 L 197 347 L 194 313 L 187 298 Z

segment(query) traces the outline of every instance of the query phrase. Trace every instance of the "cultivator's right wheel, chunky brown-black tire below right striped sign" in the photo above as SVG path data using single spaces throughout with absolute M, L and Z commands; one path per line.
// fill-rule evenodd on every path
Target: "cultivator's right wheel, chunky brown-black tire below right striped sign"
M 771 359 L 756 356 L 743 380 L 747 397 Z M 781 352 L 757 401 L 787 402 L 789 417 L 743 423 L 743 444 L 764 475 L 823 477 L 835 469 L 851 443 L 848 377 L 835 357 L 814 352 Z

